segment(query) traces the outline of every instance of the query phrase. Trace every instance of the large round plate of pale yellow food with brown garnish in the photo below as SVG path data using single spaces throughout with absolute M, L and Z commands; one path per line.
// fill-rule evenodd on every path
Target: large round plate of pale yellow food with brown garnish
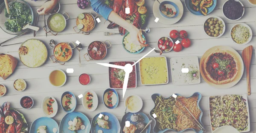
M 20 49 L 21 48 L 26 48 L 26 50 L 23 49 L 23 53 L 19 51 L 20 61 L 30 68 L 43 65 L 47 59 L 47 48 L 44 43 L 39 40 L 26 40 Z

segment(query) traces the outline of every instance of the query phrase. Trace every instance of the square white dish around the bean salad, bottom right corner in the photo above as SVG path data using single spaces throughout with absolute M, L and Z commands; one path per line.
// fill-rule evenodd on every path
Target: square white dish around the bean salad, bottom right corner
M 243 98 L 246 100 L 245 103 L 247 105 L 246 107 L 247 107 L 247 113 L 248 113 L 248 129 L 241 131 L 240 133 L 249 132 L 250 131 L 250 113 L 249 113 L 249 105 L 248 105 L 247 95 L 246 94 L 226 94 L 226 95 L 239 95 L 239 96 L 243 96 Z M 214 95 L 214 96 L 224 96 L 224 95 Z M 209 96 L 209 102 L 210 102 L 210 97 L 211 96 Z M 209 117 L 210 117 L 210 123 L 212 123 L 211 122 L 211 113 L 210 113 L 210 103 L 209 103 Z M 215 130 L 217 130 L 217 129 L 215 129 Z M 212 130 L 212 124 L 211 124 L 211 130 Z M 229 133 L 229 132 L 226 132 L 226 133 Z

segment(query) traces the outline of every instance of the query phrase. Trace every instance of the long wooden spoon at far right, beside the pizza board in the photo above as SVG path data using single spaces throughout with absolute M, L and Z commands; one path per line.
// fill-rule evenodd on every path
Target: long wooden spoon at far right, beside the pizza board
M 242 52 L 242 58 L 244 60 L 244 65 L 246 68 L 246 72 L 247 72 L 247 93 L 248 96 L 250 96 L 250 62 L 252 59 L 252 54 L 253 54 L 253 46 L 250 45 L 246 48 L 244 48 L 243 52 Z

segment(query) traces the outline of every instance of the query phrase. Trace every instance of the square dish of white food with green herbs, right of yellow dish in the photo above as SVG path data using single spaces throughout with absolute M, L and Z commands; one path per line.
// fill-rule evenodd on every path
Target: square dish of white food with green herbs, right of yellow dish
M 189 68 L 189 71 L 194 70 L 198 71 L 198 79 L 191 79 L 189 73 L 182 73 L 182 68 Z M 171 59 L 171 72 L 172 72 L 172 83 L 173 85 L 192 85 L 199 84 L 200 79 L 200 70 L 198 57 L 189 56 L 189 57 L 173 57 Z

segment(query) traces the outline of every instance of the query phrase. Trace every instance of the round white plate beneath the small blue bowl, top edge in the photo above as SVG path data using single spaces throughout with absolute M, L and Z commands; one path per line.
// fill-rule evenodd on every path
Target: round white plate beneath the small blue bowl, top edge
M 160 3 L 162 3 L 163 1 L 166 1 L 166 0 L 159 0 Z M 158 3 L 157 1 L 155 1 L 154 5 L 153 5 L 153 14 L 154 14 L 154 17 L 159 18 L 158 21 L 160 23 L 163 23 L 165 25 L 172 25 L 172 24 L 177 23 L 181 19 L 182 15 L 183 15 L 183 5 L 180 0 L 167 0 L 167 1 L 172 1 L 179 7 L 180 13 L 177 17 L 175 17 L 175 18 L 163 17 L 163 15 L 160 14 L 160 11 L 159 11 L 160 3 Z

